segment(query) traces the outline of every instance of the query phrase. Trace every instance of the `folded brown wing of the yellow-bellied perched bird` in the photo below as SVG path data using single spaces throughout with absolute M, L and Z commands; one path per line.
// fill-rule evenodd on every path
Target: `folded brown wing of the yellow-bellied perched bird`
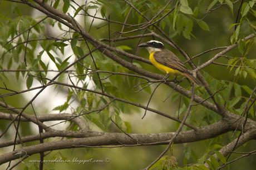
M 180 61 L 180 59 L 168 49 L 163 49 L 154 53 L 154 58 L 160 64 L 164 66 L 176 69 L 181 73 L 188 73 L 186 66 Z

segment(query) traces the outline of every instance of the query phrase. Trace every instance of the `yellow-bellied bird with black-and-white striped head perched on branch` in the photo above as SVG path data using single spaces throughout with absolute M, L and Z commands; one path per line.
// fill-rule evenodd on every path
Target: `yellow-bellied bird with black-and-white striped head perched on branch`
M 156 40 L 151 40 L 139 44 L 138 47 L 145 47 L 149 51 L 150 62 L 160 71 L 165 72 L 167 76 L 182 75 L 188 78 L 191 82 L 200 86 L 201 83 L 191 74 L 188 68 L 180 61 L 180 59 L 170 50 L 165 49 L 164 43 Z

